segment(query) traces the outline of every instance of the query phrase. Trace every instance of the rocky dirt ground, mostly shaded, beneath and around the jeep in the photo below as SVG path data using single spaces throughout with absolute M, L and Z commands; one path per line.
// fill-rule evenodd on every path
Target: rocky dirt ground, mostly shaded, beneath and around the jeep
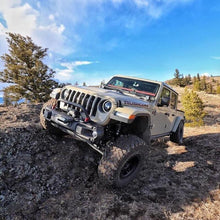
M 103 185 L 99 154 L 39 125 L 41 105 L 0 107 L 0 219 L 220 219 L 220 125 L 152 143 L 139 177 Z

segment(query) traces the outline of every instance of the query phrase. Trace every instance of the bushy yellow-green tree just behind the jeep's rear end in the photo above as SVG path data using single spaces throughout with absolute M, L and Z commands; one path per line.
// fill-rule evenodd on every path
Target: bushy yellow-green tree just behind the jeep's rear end
M 202 100 L 194 91 L 185 90 L 181 102 L 185 111 L 186 125 L 201 126 L 205 117 Z

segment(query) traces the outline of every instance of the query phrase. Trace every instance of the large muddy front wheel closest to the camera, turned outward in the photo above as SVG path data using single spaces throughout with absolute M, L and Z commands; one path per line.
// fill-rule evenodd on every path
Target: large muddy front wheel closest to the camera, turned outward
M 99 177 L 107 184 L 122 187 L 131 182 L 143 166 L 146 143 L 139 137 L 119 137 L 103 155 Z

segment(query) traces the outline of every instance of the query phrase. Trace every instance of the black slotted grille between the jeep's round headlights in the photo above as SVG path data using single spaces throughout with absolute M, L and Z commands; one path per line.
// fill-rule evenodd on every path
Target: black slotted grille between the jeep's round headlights
M 66 98 L 62 98 L 68 102 L 73 102 L 83 106 L 86 109 L 89 116 L 96 116 L 98 104 L 101 101 L 100 97 L 89 95 L 75 90 L 68 90 L 68 95 L 66 96 Z M 67 108 L 77 109 L 77 107 L 69 103 L 65 103 L 64 106 Z

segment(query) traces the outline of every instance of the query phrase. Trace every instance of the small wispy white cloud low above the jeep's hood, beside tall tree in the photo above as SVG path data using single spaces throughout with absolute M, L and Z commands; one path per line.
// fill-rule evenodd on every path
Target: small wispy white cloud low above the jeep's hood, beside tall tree
M 82 65 L 89 65 L 94 62 L 91 61 L 74 61 L 69 63 L 61 63 L 60 65 L 65 67 L 65 69 L 56 69 L 55 78 L 58 79 L 60 82 L 70 82 L 70 81 L 79 81 L 84 79 L 84 74 L 77 73 L 74 74 L 76 68 Z

